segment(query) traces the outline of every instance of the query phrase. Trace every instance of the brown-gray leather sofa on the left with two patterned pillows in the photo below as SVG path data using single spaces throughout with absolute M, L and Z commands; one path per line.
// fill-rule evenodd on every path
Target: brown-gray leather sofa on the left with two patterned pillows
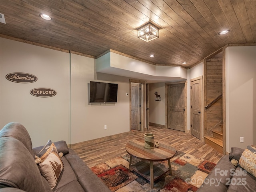
M 35 154 L 44 146 L 32 148 L 24 126 L 11 122 L 0 130 L 1 192 L 110 192 L 110 189 L 79 158 L 65 141 L 54 142 L 63 170 L 52 189 L 35 163 Z

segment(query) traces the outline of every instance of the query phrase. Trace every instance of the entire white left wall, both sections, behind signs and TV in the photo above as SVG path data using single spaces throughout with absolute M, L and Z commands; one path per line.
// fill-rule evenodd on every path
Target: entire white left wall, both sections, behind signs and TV
M 5 38 L 1 38 L 0 46 L 1 128 L 8 122 L 22 123 L 34 147 L 46 144 L 48 139 L 74 144 L 130 130 L 128 78 L 96 73 L 96 60 L 92 58 Z M 11 82 L 5 76 L 12 72 L 33 74 L 38 80 Z M 91 80 L 117 83 L 118 102 L 88 104 Z M 57 94 L 50 98 L 30 94 L 40 87 L 54 89 Z

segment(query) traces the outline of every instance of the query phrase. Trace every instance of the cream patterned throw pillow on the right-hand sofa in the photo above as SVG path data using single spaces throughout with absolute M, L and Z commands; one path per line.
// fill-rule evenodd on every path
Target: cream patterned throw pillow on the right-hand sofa
M 239 165 L 256 177 L 256 145 L 248 145 L 239 159 Z

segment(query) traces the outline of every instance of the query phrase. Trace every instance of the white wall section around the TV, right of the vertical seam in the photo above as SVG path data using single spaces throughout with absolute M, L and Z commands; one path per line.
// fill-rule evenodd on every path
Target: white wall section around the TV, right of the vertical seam
M 130 89 L 129 80 L 108 74 L 97 75 L 95 65 L 92 58 L 71 55 L 71 143 L 130 131 L 130 103 L 126 96 Z M 97 80 L 118 84 L 117 103 L 88 102 L 90 81 Z M 107 125 L 106 130 L 104 125 Z

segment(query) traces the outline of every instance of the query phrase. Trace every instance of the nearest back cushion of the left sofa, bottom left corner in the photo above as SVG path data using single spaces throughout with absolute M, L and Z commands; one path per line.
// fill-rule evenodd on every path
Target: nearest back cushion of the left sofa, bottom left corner
M 3 137 L 0 140 L 0 183 L 26 192 L 50 191 L 34 158 L 19 140 Z

